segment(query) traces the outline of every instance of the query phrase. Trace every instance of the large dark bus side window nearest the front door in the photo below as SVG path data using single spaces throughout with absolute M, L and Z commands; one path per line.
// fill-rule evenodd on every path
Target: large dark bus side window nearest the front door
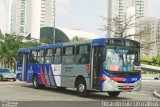
M 76 64 L 88 64 L 90 62 L 90 46 L 77 46 Z

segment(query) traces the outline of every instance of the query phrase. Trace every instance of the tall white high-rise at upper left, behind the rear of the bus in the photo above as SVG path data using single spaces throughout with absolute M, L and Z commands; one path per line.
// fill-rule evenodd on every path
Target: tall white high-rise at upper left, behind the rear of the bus
M 54 0 L 12 0 L 11 33 L 39 38 L 40 27 L 53 26 Z

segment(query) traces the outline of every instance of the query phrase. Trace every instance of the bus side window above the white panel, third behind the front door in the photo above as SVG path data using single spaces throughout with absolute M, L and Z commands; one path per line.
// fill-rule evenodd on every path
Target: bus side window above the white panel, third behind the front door
M 61 64 L 61 63 L 62 63 L 62 49 L 56 48 L 55 49 L 54 64 Z

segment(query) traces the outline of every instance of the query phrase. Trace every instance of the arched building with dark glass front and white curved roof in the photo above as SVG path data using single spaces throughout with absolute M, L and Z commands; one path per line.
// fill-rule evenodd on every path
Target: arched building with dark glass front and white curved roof
M 40 30 L 40 40 L 47 39 L 49 40 L 49 42 L 53 43 L 53 34 L 54 34 L 53 31 L 54 31 L 53 27 L 42 27 Z M 79 37 L 84 39 L 102 38 L 102 36 L 96 35 L 91 32 L 85 32 L 81 30 L 74 30 L 67 28 L 55 28 L 56 43 L 69 42 L 74 37 Z

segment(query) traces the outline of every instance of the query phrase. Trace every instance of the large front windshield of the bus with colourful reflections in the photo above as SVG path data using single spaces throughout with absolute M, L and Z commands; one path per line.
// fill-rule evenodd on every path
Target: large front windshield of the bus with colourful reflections
M 139 51 L 106 48 L 104 69 L 114 72 L 134 72 L 135 66 L 139 66 Z

